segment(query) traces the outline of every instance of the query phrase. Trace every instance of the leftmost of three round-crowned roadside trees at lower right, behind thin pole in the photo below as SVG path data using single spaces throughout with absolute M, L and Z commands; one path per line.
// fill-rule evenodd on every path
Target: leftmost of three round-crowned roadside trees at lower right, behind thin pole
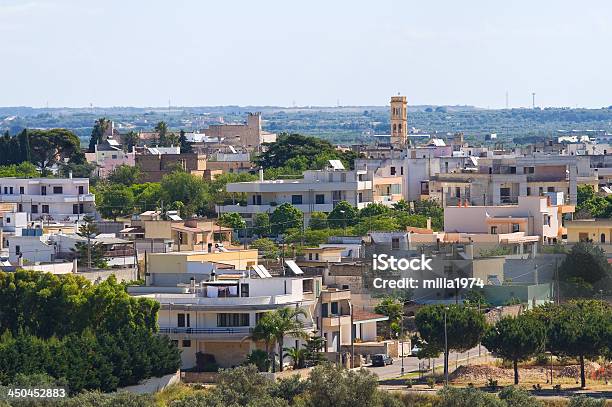
M 446 338 L 444 346 L 444 320 Z M 448 354 L 455 350 L 465 352 L 480 342 L 485 330 L 484 316 L 474 308 L 460 305 L 426 305 L 415 315 L 419 335 L 432 351 L 444 352 L 444 372 L 448 372 Z

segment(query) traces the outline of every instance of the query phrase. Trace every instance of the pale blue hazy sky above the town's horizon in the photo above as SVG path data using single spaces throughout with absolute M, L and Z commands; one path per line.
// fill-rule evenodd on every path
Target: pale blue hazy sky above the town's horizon
M 0 0 L 0 106 L 612 105 L 609 0 Z

